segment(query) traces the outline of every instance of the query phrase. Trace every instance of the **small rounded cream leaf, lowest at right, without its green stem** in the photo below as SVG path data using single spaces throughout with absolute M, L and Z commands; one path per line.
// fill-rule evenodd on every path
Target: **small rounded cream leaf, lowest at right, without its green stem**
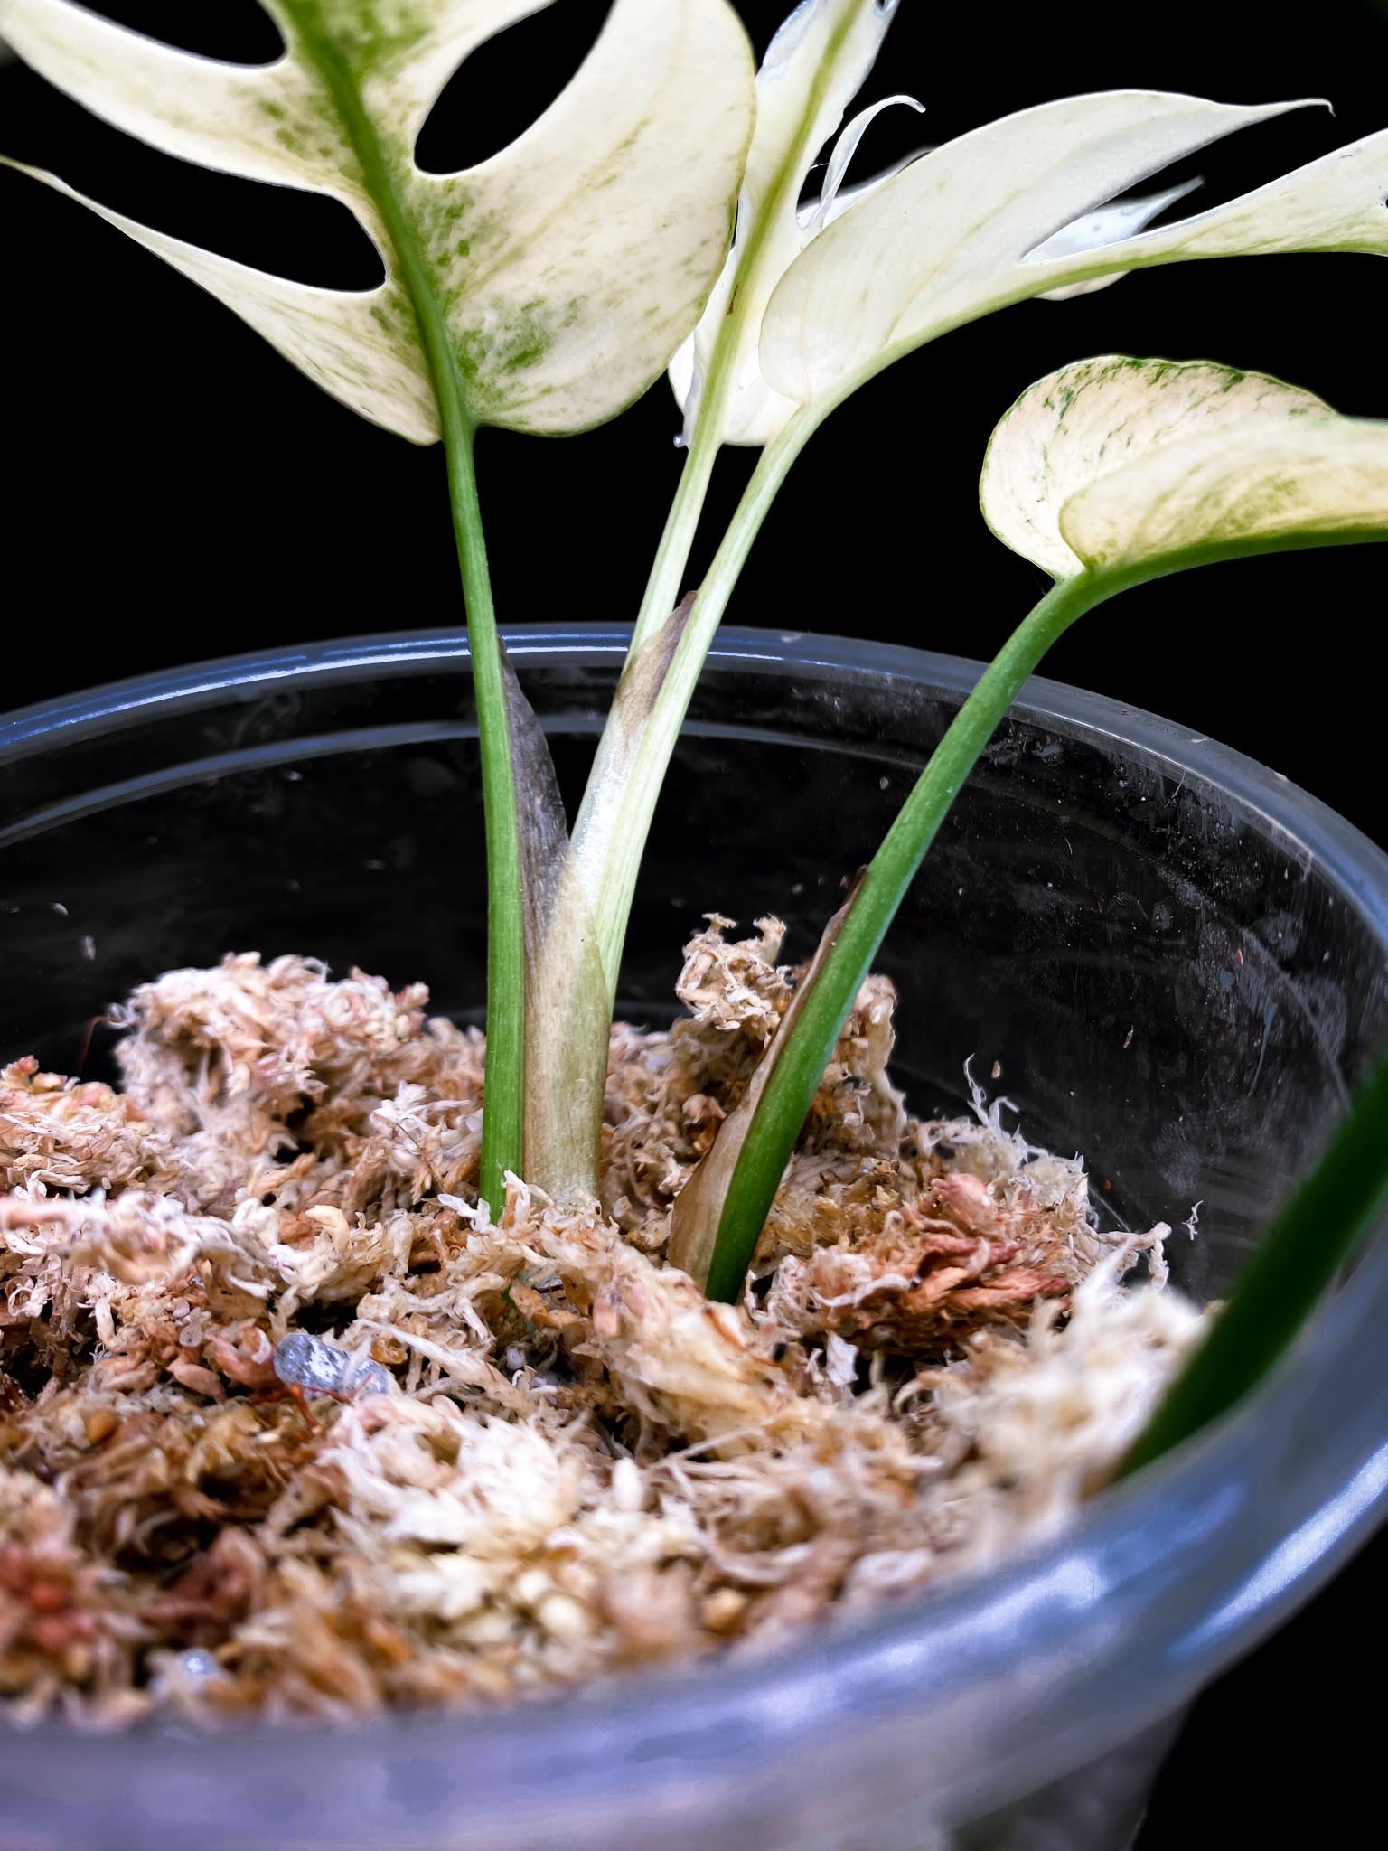
M 1029 387 L 988 444 L 992 531 L 1051 578 L 1323 535 L 1388 537 L 1388 424 L 1208 361 L 1103 355 Z

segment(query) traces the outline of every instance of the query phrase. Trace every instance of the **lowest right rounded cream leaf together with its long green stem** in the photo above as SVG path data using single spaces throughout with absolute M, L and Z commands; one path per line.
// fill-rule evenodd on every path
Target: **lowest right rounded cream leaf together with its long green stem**
M 1388 422 L 1338 416 L 1262 374 L 1103 355 L 1022 394 L 988 444 L 979 502 L 994 533 L 1055 585 L 985 670 L 898 813 L 816 961 L 812 994 L 787 1025 L 755 1111 L 720 1127 L 709 1153 L 731 1131 L 720 1186 L 687 1186 L 675 1199 L 670 1257 L 716 1296 L 740 1290 L 886 927 L 1049 646 L 1086 611 L 1153 578 L 1249 553 L 1388 540 Z

